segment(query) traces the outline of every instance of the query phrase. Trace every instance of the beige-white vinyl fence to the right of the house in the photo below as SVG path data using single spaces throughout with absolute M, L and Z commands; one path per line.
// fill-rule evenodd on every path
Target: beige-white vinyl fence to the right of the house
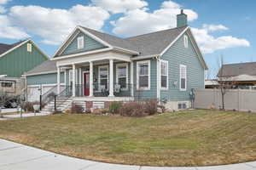
M 226 110 L 256 112 L 256 90 L 230 89 L 224 94 L 224 105 Z M 220 89 L 195 90 L 196 109 L 219 109 L 221 106 Z

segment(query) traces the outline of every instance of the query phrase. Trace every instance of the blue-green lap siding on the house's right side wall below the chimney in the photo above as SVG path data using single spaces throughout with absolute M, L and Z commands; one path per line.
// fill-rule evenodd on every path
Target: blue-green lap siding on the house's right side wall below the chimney
M 161 90 L 161 99 L 168 101 L 189 100 L 191 88 L 204 88 L 204 67 L 189 40 L 189 47 L 184 48 L 183 36 L 169 48 L 161 59 L 169 62 L 169 89 Z M 187 90 L 179 88 L 179 65 L 187 65 Z M 175 86 L 174 82 L 177 82 Z

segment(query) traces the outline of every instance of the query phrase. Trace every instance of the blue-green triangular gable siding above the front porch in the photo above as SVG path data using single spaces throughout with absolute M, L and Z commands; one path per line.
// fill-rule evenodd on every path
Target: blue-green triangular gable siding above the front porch
M 84 48 L 78 49 L 78 37 L 81 37 L 81 36 L 84 36 Z M 105 48 L 105 46 L 102 45 L 102 43 L 97 42 L 91 37 L 80 32 L 79 35 L 73 39 L 73 41 L 67 46 L 67 48 L 64 50 L 64 52 L 61 55 L 76 54 L 76 53 L 86 52 L 86 51 L 90 51 L 98 48 Z

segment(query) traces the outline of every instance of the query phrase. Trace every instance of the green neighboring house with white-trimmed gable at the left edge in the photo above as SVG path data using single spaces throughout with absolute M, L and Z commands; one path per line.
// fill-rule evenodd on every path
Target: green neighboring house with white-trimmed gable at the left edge
M 1 93 L 19 94 L 25 88 L 22 75 L 48 59 L 32 40 L 14 44 L 0 43 L 0 90 Z

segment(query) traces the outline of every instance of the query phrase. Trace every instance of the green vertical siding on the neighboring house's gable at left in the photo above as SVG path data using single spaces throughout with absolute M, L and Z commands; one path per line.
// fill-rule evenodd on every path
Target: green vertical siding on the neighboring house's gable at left
M 34 45 L 32 52 L 28 52 L 26 46 L 27 43 L 0 58 L 0 75 L 21 77 L 24 72 L 32 70 L 48 59 Z

